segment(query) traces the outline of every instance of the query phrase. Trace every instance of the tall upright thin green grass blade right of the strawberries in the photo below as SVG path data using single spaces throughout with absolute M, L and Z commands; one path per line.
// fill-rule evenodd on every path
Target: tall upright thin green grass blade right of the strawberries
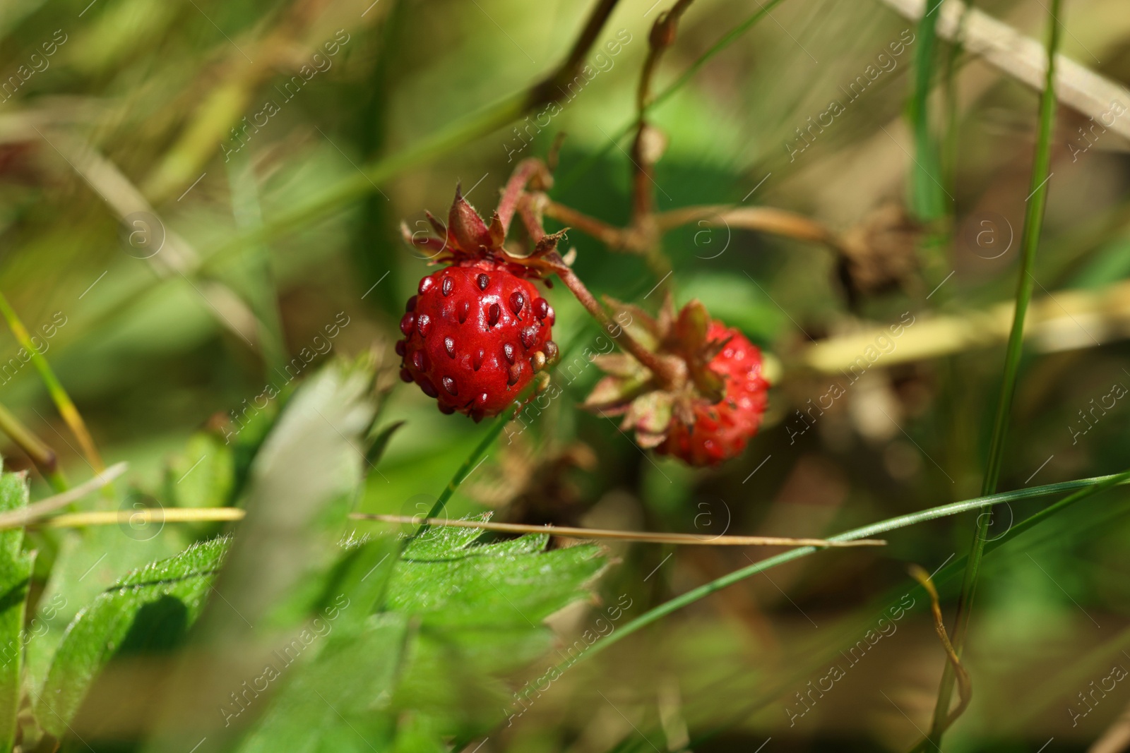
M 1016 309 L 1012 316 L 1012 329 L 1008 336 L 1005 356 L 1005 374 L 1001 380 L 1000 397 L 997 402 L 997 413 L 993 419 L 992 439 L 989 445 L 989 459 L 985 465 L 982 493 L 991 494 L 997 489 L 1000 479 L 1001 463 L 1005 456 L 1005 437 L 1008 430 L 1008 419 L 1012 408 L 1012 396 L 1016 392 L 1017 373 L 1020 367 L 1020 356 L 1024 349 L 1024 319 L 1032 300 L 1035 278 L 1032 269 L 1035 263 L 1036 247 L 1040 245 L 1040 229 L 1044 220 L 1044 208 L 1048 203 L 1048 183 L 1051 178 L 1051 140 L 1055 119 L 1055 51 L 1060 42 L 1060 24 L 1057 20 L 1060 11 L 1060 0 L 1053 0 L 1049 10 L 1048 33 L 1048 72 L 1044 93 L 1040 99 L 1040 132 L 1036 139 L 1036 152 L 1032 165 L 1031 191 L 1024 214 L 1024 234 L 1020 240 L 1020 272 L 1016 288 Z M 976 533 L 970 550 L 962 594 L 957 601 L 957 616 L 954 621 L 954 649 L 960 655 L 965 632 L 968 627 L 970 608 L 976 590 L 977 571 L 984 554 L 985 539 L 989 534 L 989 516 L 977 520 Z M 950 697 L 954 690 L 954 671 L 949 663 L 942 673 L 938 690 L 938 701 L 935 706 L 933 723 L 930 728 L 929 742 L 937 745 L 941 741 L 946 721 L 949 716 Z

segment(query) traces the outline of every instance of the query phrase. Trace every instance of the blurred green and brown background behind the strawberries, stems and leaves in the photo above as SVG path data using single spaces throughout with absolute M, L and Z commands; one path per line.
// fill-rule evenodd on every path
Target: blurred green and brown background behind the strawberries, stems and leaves
M 511 152 L 545 157 L 558 133 L 567 135 L 553 198 L 624 225 L 632 166 L 631 139 L 620 135 L 634 117 L 647 33 L 666 6 L 658 5 L 618 5 L 585 59 L 614 38 L 620 51 L 593 62 L 599 75 L 531 143 L 513 130 L 516 122 L 421 154 L 416 145 L 428 134 L 551 70 L 589 3 L 6 1 L 0 289 L 31 330 L 58 325 L 46 359 L 107 464 L 130 463 L 121 499 L 99 504 L 125 506 L 127 493 L 146 505 L 220 504 L 174 489 L 208 456 L 202 437 L 221 443 L 258 412 L 244 413 L 249 404 L 268 402 L 266 412 L 273 411 L 262 396 L 268 385 L 281 391 L 289 382 L 282 370 L 295 357 L 311 361 L 302 369 L 308 377 L 334 356 L 372 351 L 377 424 L 405 423 L 355 509 L 411 515 L 431 507 L 486 426 L 442 415 L 395 378 L 397 323 L 429 271 L 398 226 L 418 229 L 425 210 L 443 216 L 457 183 L 489 212 L 516 161 Z M 756 5 L 696 2 L 658 85 L 676 80 Z M 1043 38 L 1038 0 L 977 6 Z M 1130 80 L 1124 2 L 1068 2 L 1061 20 L 1066 55 Z M 655 172 L 658 210 L 772 205 L 873 240 L 883 231 L 876 212 L 910 200 L 914 44 L 888 56 L 883 75 L 802 154 L 792 150 L 798 129 L 829 100 L 845 102 L 844 87 L 907 30 L 919 33 L 880 2 L 774 7 L 651 113 L 669 138 Z M 944 217 L 915 226 L 912 240 L 875 240 L 873 254 L 845 272 L 827 248 L 738 228 L 692 225 L 666 236 L 676 299 L 703 300 L 782 367 L 765 424 L 741 458 L 690 471 L 643 453 L 611 421 L 576 409 L 598 376 L 585 369 L 574 380 L 558 375 L 564 396 L 528 427 L 504 430 L 450 514 L 823 536 L 975 497 L 1003 364 L 1000 327 L 981 313 L 1011 300 L 1018 245 L 992 257 L 997 251 L 976 238 L 991 220 L 1001 238 L 1018 240 L 1037 95 L 948 45 L 935 73 L 933 126 L 944 134 L 942 184 L 953 201 Z M 1130 385 L 1130 159 L 1113 131 L 1086 139 L 1080 129 L 1089 125 L 1072 110 L 1059 112 L 1034 273 L 1042 318 L 1029 324 L 1036 335 L 1020 371 L 1001 489 L 1130 465 L 1130 408 L 1118 401 L 1088 412 L 1113 385 Z M 391 167 L 366 176 L 363 168 L 377 160 Z M 567 243 L 594 292 L 654 310 L 655 297 L 645 296 L 659 280 L 641 259 L 576 230 Z M 599 331 L 563 287 L 548 297 L 558 312 L 555 340 L 579 343 L 568 362 Z M 812 431 L 791 436 L 794 411 L 840 378 L 836 368 L 810 368 L 815 349 L 870 336 L 905 312 L 915 324 L 890 357 Z M 939 321 L 960 335 L 957 344 L 928 329 Z M 14 364 L 0 402 L 58 450 L 68 476 L 86 479 L 90 469 L 35 368 L 8 360 L 18 349 L 0 338 L 0 364 Z M 861 350 L 846 352 L 838 368 Z M 211 434 L 198 434 L 205 429 Z M 249 443 L 259 431 L 245 430 L 238 436 Z M 206 444 L 186 449 L 193 436 Z M 32 471 L 33 499 L 49 493 L 19 448 L 0 452 L 8 470 Z M 997 508 L 993 531 L 1042 504 Z M 1128 725 L 1130 683 L 1087 694 L 1112 665 L 1130 667 L 1128 511 L 1125 491 L 1104 492 L 986 560 L 966 656 L 974 700 L 947 751 L 1123 750 L 1090 745 Z M 894 532 L 884 549 L 819 553 L 696 603 L 572 669 L 521 719 L 501 724 L 481 752 L 679 750 L 698 736 L 706 737 L 699 751 L 763 750 L 767 738 L 765 751 L 906 750 L 929 724 L 945 663 L 923 603 L 892 623 L 896 630 L 858 667 L 842 659 L 852 667 L 846 677 L 809 711 L 792 718 L 790 710 L 807 708 L 798 693 L 827 674 L 829 654 L 860 640 L 884 599 L 905 590 L 907 563 L 933 571 L 967 551 L 975 517 Z M 89 534 L 98 543 L 84 546 L 113 555 L 96 563 L 88 594 L 218 529 Z M 54 533 L 33 536 L 42 552 L 71 551 Z M 594 584 L 599 599 L 551 619 L 558 646 L 621 597 L 635 618 L 767 554 L 652 544 L 610 552 L 614 564 Z M 60 554 L 54 567 L 77 578 L 88 564 L 80 560 Z M 41 555 L 41 590 L 50 561 Z M 956 593 L 949 586 L 947 620 Z M 79 606 L 69 603 L 53 624 L 61 629 Z M 508 682 L 518 689 L 542 672 L 515 668 Z

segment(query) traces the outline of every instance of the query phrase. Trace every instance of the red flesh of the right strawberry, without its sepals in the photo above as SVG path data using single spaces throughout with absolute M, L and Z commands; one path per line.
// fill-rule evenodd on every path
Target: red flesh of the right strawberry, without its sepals
M 740 455 L 757 434 L 770 386 L 762 375 L 762 352 L 744 334 L 712 321 L 706 336 L 727 341 L 710 361 L 710 369 L 725 379 L 725 394 L 713 405 L 695 401 L 694 421 L 687 423 L 675 417 L 667 440 L 655 448 L 690 465 L 718 465 Z

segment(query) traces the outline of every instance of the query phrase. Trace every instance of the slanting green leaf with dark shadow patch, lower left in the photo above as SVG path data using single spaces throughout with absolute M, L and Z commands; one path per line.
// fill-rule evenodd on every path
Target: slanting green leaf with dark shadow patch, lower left
M 67 628 L 35 698 L 40 724 L 61 737 L 97 675 L 115 657 L 180 645 L 203 607 L 228 549 L 227 537 L 193 544 L 119 581 Z

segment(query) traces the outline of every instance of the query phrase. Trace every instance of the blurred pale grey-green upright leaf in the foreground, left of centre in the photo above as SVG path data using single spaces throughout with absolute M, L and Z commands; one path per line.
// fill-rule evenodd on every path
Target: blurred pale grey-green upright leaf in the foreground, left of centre
M 373 420 L 372 380 L 370 360 L 334 361 L 287 402 L 252 464 L 247 515 L 216 584 L 217 608 L 208 610 L 193 631 L 194 648 L 211 657 L 215 671 L 201 676 L 191 662 L 175 669 L 145 750 L 180 744 L 182 710 L 228 698 L 232 689 L 249 681 L 250 672 L 263 669 L 249 666 L 258 663 L 253 657 L 259 651 L 268 655 L 296 633 L 306 636 L 304 645 L 318 647 L 301 651 L 303 663 L 322 649 L 323 641 L 312 637 L 308 625 L 324 603 L 327 578 L 340 576 L 339 542 L 362 469 L 367 467 L 362 439 Z M 262 713 L 266 703 L 254 709 L 254 715 Z M 217 725 L 208 734 L 209 745 L 224 750 L 234 744 L 254 715 L 240 719 L 238 726 Z

